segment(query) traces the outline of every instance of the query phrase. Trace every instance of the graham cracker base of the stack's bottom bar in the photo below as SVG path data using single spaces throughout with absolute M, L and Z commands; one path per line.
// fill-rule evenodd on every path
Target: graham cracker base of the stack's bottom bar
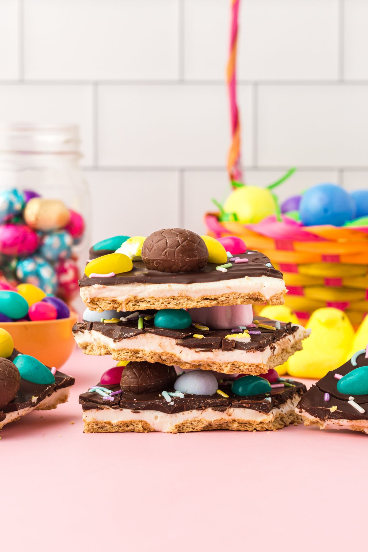
M 230 429 L 231 431 L 277 431 L 290 424 L 300 423 L 300 416 L 294 411 L 279 412 L 274 420 L 263 422 L 247 422 L 244 420 L 204 420 L 200 416 L 194 420 L 175 424 L 167 433 L 189 433 L 197 431 L 210 431 L 211 429 Z M 90 421 L 84 422 L 84 433 L 149 433 L 154 431 L 150 423 L 140 420 L 127 420 L 124 422 L 112 423 L 109 421 Z

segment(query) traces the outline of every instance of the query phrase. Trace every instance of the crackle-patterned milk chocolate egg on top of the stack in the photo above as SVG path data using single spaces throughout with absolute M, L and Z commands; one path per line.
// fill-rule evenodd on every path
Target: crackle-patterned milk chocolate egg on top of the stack
M 205 268 L 209 252 L 202 238 L 182 228 L 157 230 L 142 246 L 142 260 L 149 270 L 194 272 Z

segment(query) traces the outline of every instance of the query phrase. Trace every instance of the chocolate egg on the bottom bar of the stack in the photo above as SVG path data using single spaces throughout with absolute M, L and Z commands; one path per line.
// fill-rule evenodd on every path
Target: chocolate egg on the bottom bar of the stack
M 159 362 L 130 362 L 121 374 L 120 387 L 126 395 L 164 391 L 174 385 L 177 373 L 173 366 Z

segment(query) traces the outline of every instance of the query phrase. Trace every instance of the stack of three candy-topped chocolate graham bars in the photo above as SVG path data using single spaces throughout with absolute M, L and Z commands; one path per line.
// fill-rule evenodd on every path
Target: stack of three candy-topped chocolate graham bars
M 270 260 L 239 241 L 226 251 L 183 229 L 153 232 L 143 245 L 124 237 L 116 247 L 117 238 L 91 248 L 79 281 L 88 309 L 74 325 L 76 342 L 120 364 L 79 397 L 84 432 L 253 431 L 297 422 L 305 386 L 274 368 L 302 348 L 308 331 L 253 318 L 252 304 L 284 302 L 284 280 Z

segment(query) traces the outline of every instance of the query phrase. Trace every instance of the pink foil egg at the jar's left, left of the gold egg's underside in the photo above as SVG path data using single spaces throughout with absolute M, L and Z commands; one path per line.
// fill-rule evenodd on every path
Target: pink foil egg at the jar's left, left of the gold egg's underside
M 20 224 L 0 226 L 0 253 L 16 257 L 34 253 L 39 245 L 36 232 Z

